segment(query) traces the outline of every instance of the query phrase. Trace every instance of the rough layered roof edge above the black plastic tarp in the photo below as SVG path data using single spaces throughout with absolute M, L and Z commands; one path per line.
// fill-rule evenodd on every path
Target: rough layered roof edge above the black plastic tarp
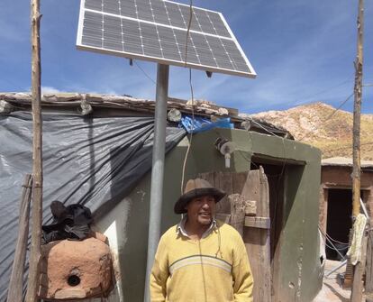
M 22 92 L 0 92 L 0 100 L 14 105 L 15 109 L 28 108 L 32 104 L 30 93 Z M 86 101 L 93 108 L 112 108 L 122 110 L 132 110 L 139 112 L 154 112 L 155 101 L 132 96 L 112 96 L 100 94 L 81 94 L 81 93 L 53 93 L 43 94 L 41 97 L 42 106 L 71 107 L 80 106 L 82 101 Z M 168 109 L 175 108 L 183 114 L 194 114 L 199 116 L 224 116 L 230 117 L 236 128 L 246 129 L 258 133 L 266 133 L 294 140 L 294 137 L 286 129 L 275 126 L 263 120 L 250 117 L 239 116 L 239 111 L 234 108 L 214 105 L 206 100 L 192 101 L 168 97 Z

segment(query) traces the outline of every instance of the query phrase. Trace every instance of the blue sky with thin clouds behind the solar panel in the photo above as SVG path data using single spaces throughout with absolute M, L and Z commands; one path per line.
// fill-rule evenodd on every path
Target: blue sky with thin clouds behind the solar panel
M 189 1 L 179 1 L 189 4 Z M 373 2 L 365 1 L 364 83 L 373 84 Z M 199 0 L 222 12 L 258 78 L 193 70 L 196 98 L 242 113 L 324 102 L 338 106 L 353 90 L 358 0 Z M 78 0 L 41 0 L 44 92 L 96 92 L 154 99 L 156 63 L 76 49 Z M 0 1 L 0 91 L 31 87 L 30 2 Z M 140 66 L 140 68 L 138 66 Z M 189 99 L 188 69 L 171 67 L 169 96 Z M 353 98 L 342 107 L 352 110 Z M 373 113 L 373 87 L 362 112 Z

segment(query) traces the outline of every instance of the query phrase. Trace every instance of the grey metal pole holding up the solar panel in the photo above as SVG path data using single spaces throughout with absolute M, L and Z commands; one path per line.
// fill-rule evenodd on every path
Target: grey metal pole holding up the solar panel
M 160 238 L 160 218 L 163 198 L 163 170 L 165 163 L 166 118 L 168 102 L 168 65 L 158 64 L 154 124 L 153 163 L 151 169 L 150 216 L 148 232 L 148 259 L 144 302 L 150 302 L 150 270 Z

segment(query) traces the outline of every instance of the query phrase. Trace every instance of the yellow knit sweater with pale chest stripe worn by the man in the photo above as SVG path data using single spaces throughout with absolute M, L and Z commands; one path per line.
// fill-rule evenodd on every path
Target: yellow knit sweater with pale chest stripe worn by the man
M 218 222 L 201 240 L 160 238 L 150 275 L 151 302 L 252 302 L 253 280 L 241 235 Z

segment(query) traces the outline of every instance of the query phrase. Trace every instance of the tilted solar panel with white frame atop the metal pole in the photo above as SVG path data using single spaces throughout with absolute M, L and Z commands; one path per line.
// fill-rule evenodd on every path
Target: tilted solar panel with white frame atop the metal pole
M 223 14 L 168 0 L 81 0 L 77 49 L 255 78 Z

